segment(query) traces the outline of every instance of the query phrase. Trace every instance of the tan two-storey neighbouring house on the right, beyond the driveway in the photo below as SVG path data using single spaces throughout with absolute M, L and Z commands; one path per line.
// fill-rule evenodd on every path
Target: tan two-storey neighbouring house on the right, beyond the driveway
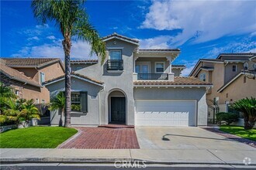
M 244 97 L 256 97 L 256 53 L 221 53 L 216 59 L 199 59 L 189 76 L 213 83 L 207 91 L 209 121 L 213 121 L 213 101 L 226 112 L 228 104 Z M 216 110 L 215 110 L 216 112 Z

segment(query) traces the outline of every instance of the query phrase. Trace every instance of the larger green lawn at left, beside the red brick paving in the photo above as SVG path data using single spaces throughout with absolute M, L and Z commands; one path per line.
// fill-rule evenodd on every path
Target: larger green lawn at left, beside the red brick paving
M 74 128 L 31 127 L 0 134 L 0 148 L 56 148 L 78 131 Z

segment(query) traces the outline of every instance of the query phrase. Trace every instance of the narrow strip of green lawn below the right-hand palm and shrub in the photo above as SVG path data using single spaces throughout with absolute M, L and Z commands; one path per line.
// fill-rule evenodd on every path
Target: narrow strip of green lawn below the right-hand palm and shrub
M 222 125 L 220 126 L 220 131 L 225 131 L 230 134 L 235 134 L 242 138 L 251 139 L 252 141 L 256 141 L 256 129 L 244 130 L 244 127 L 240 126 L 228 126 Z

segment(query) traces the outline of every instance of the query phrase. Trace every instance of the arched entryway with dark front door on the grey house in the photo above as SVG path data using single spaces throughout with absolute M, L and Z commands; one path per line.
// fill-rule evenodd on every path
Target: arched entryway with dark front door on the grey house
M 109 124 L 126 124 L 126 95 L 112 90 L 108 97 Z

